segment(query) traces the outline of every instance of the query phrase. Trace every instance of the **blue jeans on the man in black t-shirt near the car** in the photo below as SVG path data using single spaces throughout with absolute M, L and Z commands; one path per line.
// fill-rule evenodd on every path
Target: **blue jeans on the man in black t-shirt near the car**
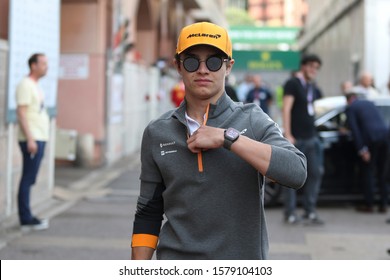
M 307 178 L 303 185 L 303 209 L 305 214 L 316 213 L 317 198 L 320 191 L 323 168 L 323 147 L 318 137 L 297 139 L 295 146 L 305 154 L 307 160 Z M 296 190 L 284 189 L 286 216 L 295 214 L 297 204 Z

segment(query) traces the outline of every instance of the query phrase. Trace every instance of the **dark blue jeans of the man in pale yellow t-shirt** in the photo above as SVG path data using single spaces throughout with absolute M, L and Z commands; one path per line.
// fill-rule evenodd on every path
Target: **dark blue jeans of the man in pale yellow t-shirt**
M 37 178 L 46 142 L 37 141 L 36 143 L 38 151 L 35 155 L 32 155 L 27 151 L 27 142 L 19 142 L 23 156 L 23 170 L 18 192 L 19 221 L 21 224 L 28 223 L 33 219 L 30 209 L 30 191 Z

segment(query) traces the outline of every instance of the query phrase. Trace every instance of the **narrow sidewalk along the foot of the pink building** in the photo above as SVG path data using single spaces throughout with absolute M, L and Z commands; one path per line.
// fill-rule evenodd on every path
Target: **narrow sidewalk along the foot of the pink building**
M 97 168 L 56 166 L 53 196 L 36 205 L 34 212 L 39 217 L 53 219 L 83 198 L 104 192 L 110 182 L 137 165 L 139 165 L 138 153 L 122 158 L 111 166 Z M 0 250 L 23 234 L 25 233 L 20 230 L 16 215 L 3 221 L 0 224 Z

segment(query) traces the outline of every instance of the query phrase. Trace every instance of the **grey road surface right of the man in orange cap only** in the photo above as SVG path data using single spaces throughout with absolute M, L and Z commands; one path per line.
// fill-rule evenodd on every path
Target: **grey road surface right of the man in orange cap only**
M 389 260 L 390 225 L 384 214 L 360 214 L 351 206 L 321 207 L 324 226 L 286 226 L 281 209 L 267 213 L 271 259 Z

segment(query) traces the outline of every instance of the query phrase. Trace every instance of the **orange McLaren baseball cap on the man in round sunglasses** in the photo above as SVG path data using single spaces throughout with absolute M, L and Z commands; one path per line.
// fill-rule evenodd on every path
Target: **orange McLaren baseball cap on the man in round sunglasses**
M 197 22 L 185 26 L 177 40 L 176 54 L 196 45 L 209 45 L 220 49 L 230 58 L 232 57 L 232 42 L 226 29 L 210 23 Z

